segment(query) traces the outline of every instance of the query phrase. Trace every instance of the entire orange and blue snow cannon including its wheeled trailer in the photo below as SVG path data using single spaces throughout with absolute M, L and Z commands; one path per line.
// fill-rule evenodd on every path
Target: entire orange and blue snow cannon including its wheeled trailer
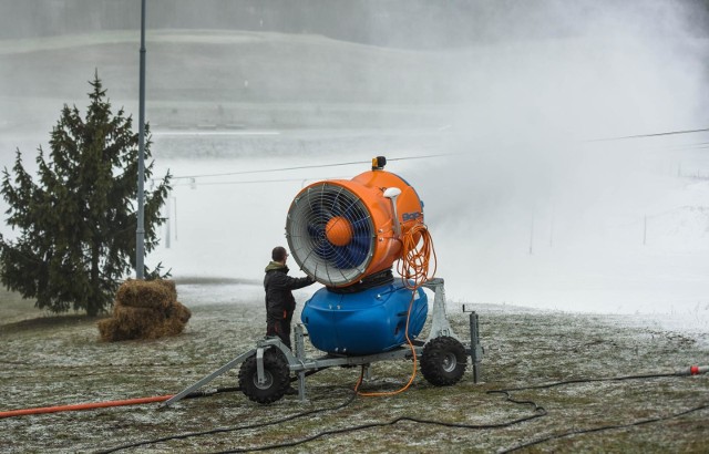
M 449 386 L 463 378 L 470 355 L 479 382 L 483 350 L 477 314 L 463 307 L 470 312 L 471 339 L 463 344 L 448 320 L 443 279 L 432 276 L 435 268 L 429 274 L 435 254 L 423 224 L 423 204 L 403 178 L 384 171 L 386 164 L 384 157 L 376 157 L 370 172 L 352 179 L 315 183 L 290 205 L 286 221 L 290 254 L 306 274 L 325 285 L 302 308 L 294 349 L 267 336 L 169 398 L 165 406 L 194 395 L 239 364 L 239 388 L 263 404 L 286 395 L 294 374 L 299 400 L 307 402 L 307 375 L 360 365 L 361 382 L 379 361 L 418 361 L 429 383 Z M 394 262 L 400 277 L 394 277 Z M 423 287 L 433 292 L 425 340 L 418 339 L 429 312 Z M 309 358 L 306 338 L 327 354 Z

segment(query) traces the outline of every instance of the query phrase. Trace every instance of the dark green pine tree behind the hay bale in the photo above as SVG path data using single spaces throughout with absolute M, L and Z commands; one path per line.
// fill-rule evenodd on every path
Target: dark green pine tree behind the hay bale
M 7 167 L 3 171 L 0 193 L 10 207 L 7 223 L 19 235 L 14 240 L 0 235 L 0 281 L 35 299 L 39 309 L 73 308 L 96 316 L 112 305 L 120 280 L 135 264 L 138 136 L 123 109 L 111 112 L 97 73 L 90 84 L 85 120 L 75 105 L 64 104 L 51 132 L 49 159 L 39 147 L 39 180 L 25 171 L 19 149 L 14 184 Z M 146 125 L 146 137 L 148 133 Z M 145 141 L 146 182 L 154 166 L 150 145 Z M 158 241 L 169 178 L 167 173 L 153 190 L 145 190 L 146 252 Z M 160 265 L 145 275 L 156 272 Z

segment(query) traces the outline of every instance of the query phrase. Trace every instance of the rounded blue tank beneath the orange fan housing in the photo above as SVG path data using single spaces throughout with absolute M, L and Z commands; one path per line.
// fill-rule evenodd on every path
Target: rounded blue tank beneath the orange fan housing
M 413 296 L 413 303 L 411 299 Z M 429 313 L 428 297 L 401 280 L 352 293 L 322 288 L 306 301 L 300 319 L 310 342 L 333 354 L 374 354 L 407 342 L 407 314 L 411 303 L 409 339 L 421 332 Z

